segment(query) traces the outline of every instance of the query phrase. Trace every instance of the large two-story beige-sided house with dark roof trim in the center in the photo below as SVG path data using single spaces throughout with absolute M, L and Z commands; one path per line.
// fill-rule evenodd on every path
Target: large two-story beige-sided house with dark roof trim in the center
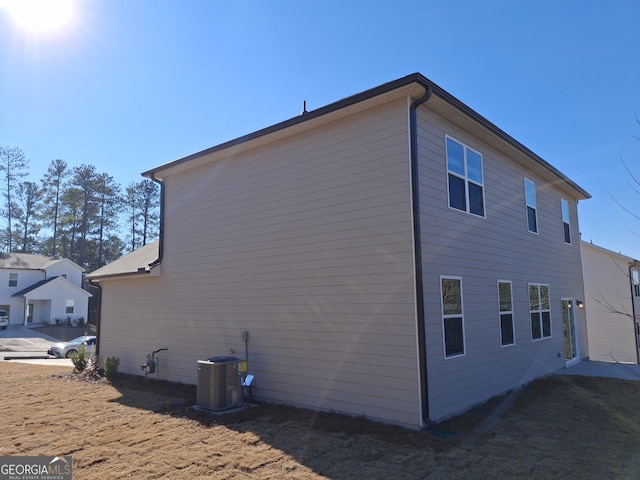
M 420 428 L 586 356 L 589 194 L 420 74 L 144 175 L 157 257 L 89 275 L 122 371 Z

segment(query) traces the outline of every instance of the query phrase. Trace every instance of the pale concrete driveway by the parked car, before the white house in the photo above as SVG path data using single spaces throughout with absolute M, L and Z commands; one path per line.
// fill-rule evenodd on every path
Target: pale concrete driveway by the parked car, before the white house
M 39 332 L 37 328 L 9 325 L 6 330 L 0 330 L 0 361 L 18 360 L 26 363 L 72 366 L 71 360 L 67 358 L 58 359 L 47 355 L 51 344 L 59 341 Z

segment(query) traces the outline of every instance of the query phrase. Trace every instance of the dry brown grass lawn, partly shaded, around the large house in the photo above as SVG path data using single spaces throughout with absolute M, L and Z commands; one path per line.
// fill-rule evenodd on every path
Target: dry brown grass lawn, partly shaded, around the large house
M 447 438 L 277 405 L 189 409 L 195 388 L 0 362 L 0 455 L 79 479 L 640 478 L 640 382 L 552 376 L 439 425 Z

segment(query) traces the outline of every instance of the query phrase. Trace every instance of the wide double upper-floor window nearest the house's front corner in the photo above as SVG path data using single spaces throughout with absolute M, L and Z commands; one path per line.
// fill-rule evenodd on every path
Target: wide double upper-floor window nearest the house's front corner
M 484 217 L 482 155 L 447 137 L 449 206 Z

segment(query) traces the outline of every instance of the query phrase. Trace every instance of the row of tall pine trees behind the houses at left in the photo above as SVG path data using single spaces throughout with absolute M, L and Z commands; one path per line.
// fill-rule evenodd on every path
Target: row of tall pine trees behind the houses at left
M 160 188 L 144 179 L 124 190 L 93 165 L 53 160 L 39 182 L 29 160 L 0 146 L 0 250 L 64 257 L 91 272 L 158 237 Z

